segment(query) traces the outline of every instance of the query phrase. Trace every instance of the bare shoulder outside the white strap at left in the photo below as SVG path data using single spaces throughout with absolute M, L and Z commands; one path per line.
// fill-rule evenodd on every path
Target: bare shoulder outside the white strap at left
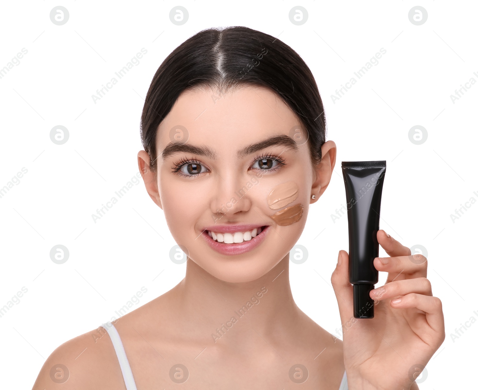
M 118 358 L 103 327 L 72 338 L 46 359 L 33 385 L 43 389 L 125 389 Z

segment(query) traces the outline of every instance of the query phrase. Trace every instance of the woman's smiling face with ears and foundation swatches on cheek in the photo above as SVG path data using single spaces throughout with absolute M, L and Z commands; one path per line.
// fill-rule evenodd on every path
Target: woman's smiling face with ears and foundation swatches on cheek
M 288 255 L 309 204 L 328 185 L 335 144 L 324 144 L 323 163 L 314 166 L 306 140 L 269 89 L 186 91 L 158 128 L 158 169 L 146 170 L 145 184 L 191 260 L 218 279 L 249 282 Z M 149 158 L 138 156 L 141 171 Z M 263 226 L 260 234 L 252 229 Z

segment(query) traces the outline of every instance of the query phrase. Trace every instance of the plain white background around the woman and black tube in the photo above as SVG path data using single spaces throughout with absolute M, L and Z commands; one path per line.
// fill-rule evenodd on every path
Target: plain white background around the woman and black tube
M 58 5 L 69 11 L 61 26 L 49 17 Z M 169 19 L 177 5 L 189 13 L 180 26 Z M 289 20 L 297 5 L 308 11 L 302 25 Z M 418 26 L 408 18 L 416 5 L 428 12 Z M 426 248 L 428 278 L 445 312 L 446 339 L 420 389 L 476 386 L 478 324 L 455 340 L 451 334 L 478 319 L 478 204 L 450 218 L 478 200 L 478 83 L 450 98 L 471 77 L 478 81 L 476 3 L 46 0 L 1 7 L 0 68 L 28 50 L 0 79 L 0 187 L 28 169 L 0 198 L 0 306 L 28 289 L 0 318 L 2 388 L 31 388 L 54 348 L 116 316 L 142 286 L 148 291 L 137 306 L 184 277 L 185 264 L 169 259 L 175 242 L 163 211 L 142 180 L 96 223 L 91 214 L 138 172 L 143 99 L 164 58 L 200 30 L 234 25 L 279 37 L 302 56 L 324 101 L 327 139 L 337 143 L 331 184 L 298 241 L 309 257 L 291 262 L 299 307 L 338 334 L 330 275 L 338 251 L 348 251 L 347 217 L 331 219 L 345 204 L 340 164 L 386 160 L 380 228 Z M 91 95 L 141 48 L 148 52 L 140 63 L 95 104 Z M 334 102 L 336 89 L 380 48 L 379 63 Z M 57 125 L 69 131 L 63 145 L 50 140 Z M 428 133 L 421 145 L 408 137 L 415 125 Z M 65 264 L 50 259 L 56 244 L 69 250 Z

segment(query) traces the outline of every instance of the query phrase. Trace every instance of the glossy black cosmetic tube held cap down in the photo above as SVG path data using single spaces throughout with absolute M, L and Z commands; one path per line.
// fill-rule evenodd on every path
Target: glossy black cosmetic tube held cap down
M 354 318 L 373 318 L 370 291 L 379 281 L 380 201 L 386 161 L 342 161 L 348 217 L 348 278 L 354 286 Z

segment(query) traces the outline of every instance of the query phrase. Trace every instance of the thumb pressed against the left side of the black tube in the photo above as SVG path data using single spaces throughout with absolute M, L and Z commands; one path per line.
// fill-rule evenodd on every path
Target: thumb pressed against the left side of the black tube
M 337 298 L 338 311 L 342 324 L 354 315 L 354 292 L 348 281 L 348 253 L 338 251 L 337 266 L 330 278 Z

